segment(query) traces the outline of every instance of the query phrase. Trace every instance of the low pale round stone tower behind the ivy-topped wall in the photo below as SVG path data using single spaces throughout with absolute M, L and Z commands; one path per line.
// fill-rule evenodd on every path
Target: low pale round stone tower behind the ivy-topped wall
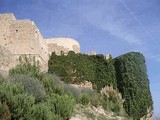
M 68 53 L 69 51 L 74 51 L 75 53 L 80 53 L 80 45 L 77 41 L 71 38 L 52 38 L 46 40 L 48 43 L 48 51 L 51 54 L 55 52 L 57 55 L 63 53 Z

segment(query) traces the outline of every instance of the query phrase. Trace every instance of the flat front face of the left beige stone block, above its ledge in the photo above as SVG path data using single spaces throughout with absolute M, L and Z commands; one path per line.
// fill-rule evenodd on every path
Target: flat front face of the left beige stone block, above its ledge
M 12 21 L 10 43 L 6 47 L 13 54 L 39 54 L 34 37 L 34 26 L 30 20 Z

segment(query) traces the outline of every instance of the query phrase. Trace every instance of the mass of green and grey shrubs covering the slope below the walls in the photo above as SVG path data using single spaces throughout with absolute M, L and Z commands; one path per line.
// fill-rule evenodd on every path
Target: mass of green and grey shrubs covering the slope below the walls
M 7 80 L 0 77 L 1 120 L 68 120 L 75 104 L 100 106 L 107 101 L 91 89 L 75 88 L 55 74 L 40 73 L 30 63 L 11 69 Z

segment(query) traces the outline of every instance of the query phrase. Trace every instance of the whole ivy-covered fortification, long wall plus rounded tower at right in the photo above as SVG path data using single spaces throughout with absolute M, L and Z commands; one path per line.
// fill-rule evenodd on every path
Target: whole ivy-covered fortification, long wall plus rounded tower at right
M 145 59 L 140 53 L 130 52 L 110 60 L 102 54 L 89 56 L 69 52 L 57 56 L 52 53 L 48 65 L 50 73 L 56 73 L 67 83 L 90 81 L 98 91 L 113 86 L 122 94 L 124 108 L 135 120 L 152 107 Z

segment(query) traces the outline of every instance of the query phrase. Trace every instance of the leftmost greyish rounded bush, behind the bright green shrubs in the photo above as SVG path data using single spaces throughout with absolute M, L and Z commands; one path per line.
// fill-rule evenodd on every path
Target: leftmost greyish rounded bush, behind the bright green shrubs
M 21 83 L 26 93 L 35 96 L 36 101 L 40 101 L 46 95 L 45 88 L 38 79 L 27 75 L 15 75 L 9 78 L 11 83 Z

